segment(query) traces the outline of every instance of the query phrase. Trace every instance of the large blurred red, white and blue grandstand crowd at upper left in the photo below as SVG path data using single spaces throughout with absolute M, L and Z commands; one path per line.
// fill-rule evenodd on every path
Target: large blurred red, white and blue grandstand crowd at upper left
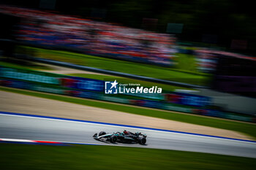
M 170 34 L 36 9 L 0 6 L 0 12 L 21 18 L 17 39 L 22 42 L 143 63 L 173 65 L 176 38 Z

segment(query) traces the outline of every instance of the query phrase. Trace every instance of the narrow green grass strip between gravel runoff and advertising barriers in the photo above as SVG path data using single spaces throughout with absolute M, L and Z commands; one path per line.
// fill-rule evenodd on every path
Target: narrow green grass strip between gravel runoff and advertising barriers
M 238 131 L 242 134 L 252 136 L 256 139 L 256 125 L 252 123 L 243 123 L 232 120 L 222 120 L 213 117 L 204 117 L 197 115 L 180 114 L 176 112 L 168 112 L 164 110 L 148 109 L 143 107 L 132 107 L 123 104 L 106 103 L 103 101 L 93 101 L 84 98 L 71 98 L 68 96 L 53 95 L 50 93 L 37 93 L 29 90 L 18 90 L 14 88 L 0 87 L 0 90 L 10 91 L 13 93 L 21 93 L 29 96 L 37 96 L 41 98 L 50 98 L 58 101 L 67 101 L 75 104 L 83 104 L 91 107 L 99 107 L 103 109 L 111 109 L 121 112 L 128 112 L 136 115 L 145 115 L 151 117 L 159 117 L 167 120 L 176 120 L 184 123 L 192 123 L 196 125 L 206 125 L 214 128 L 222 128 L 231 131 Z

